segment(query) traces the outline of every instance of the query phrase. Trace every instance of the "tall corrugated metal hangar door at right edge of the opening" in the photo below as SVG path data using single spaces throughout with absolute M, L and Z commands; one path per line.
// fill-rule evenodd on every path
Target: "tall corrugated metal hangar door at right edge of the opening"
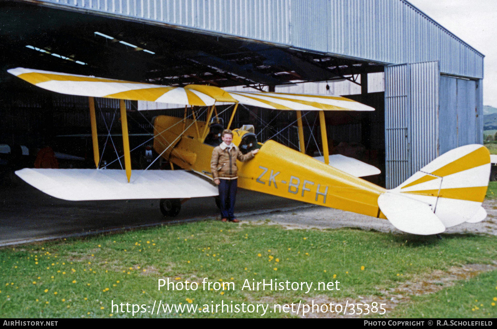
M 385 175 L 393 189 L 438 156 L 438 62 L 385 67 Z

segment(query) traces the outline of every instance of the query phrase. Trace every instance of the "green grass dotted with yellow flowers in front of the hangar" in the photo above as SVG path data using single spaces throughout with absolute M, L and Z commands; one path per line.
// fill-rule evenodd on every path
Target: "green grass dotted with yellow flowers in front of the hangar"
M 204 221 L 116 235 L 64 240 L 0 251 L 0 312 L 4 318 L 132 317 L 112 312 L 117 303 L 211 305 L 213 303 L 390 303 L 388 291 L 434 270 L 492 263 L 491 236 L 394 235 L 353 229 L 285 230 L 276 225 L 241 226 Z M 233 282 L 234 289 L 203 290 L 202 280 Z M 198 282 L 192 290 L 158 290 L 158 279 Z M 339 281 L 340 290 L 242 290 L 244 280 Z M 218 283 L 219 284 L 219 283 Z M 464 284 L 464 289 L 459 288 Z M 385 317 L 433 314 L 438 298 L 451 300 L 440 317 L 497 317 L 488 301 L 497 295 L 497 271 L 439 293 L 409 299 Z M 406 292 L 406 294 L 409 294 Z M 439 296 L 440 294 L 440 296 Z M 448 295 L 447 295 L 448 294 Z M 485 307 L 472 311 L 475 299 Z M 444 299 L 445 300 L 445 299 Z M 388 305 L 387 305 L 388 306 Z M 402 311 L 399 311 L 401 310 Z M 140 309 L 141 310 L 141 309 Z M 454 311 L 456 310 L 456 311 Z M 114 310 L 115 311 L 115 310 Z M 259 317 L 258 313 L 136 313 L 134 317 Z M 264 317 L 290 317 L 266 313 Z M 376 315 L 377 316 L 377 315 Z

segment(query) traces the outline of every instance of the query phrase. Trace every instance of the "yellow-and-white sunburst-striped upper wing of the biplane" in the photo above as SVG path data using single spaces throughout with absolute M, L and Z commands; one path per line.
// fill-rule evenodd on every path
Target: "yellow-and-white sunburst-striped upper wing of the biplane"
M 240 103 L 276 110 L 374 111 L 374 108 L 341 96 L 276 92 L 226 91 L 215 86 L 185 87 L 106 79 L 30 68 L 11 68 L 9 73 L 40 88 L 62 94 L 210 106 L 215 102 Z

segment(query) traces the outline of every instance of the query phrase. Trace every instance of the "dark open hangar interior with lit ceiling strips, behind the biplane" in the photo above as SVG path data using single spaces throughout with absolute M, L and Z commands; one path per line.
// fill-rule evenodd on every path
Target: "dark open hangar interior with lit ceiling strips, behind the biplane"
M 3 54 L 1 72 L 1 115 L 8 118 L 1 124 L 1 140 L 10 145 L 26 145 L 33 156 L 31 161 L 37 148 L 48 145 L 56 151 L 86 159 L 76 163 L 60 161 L 61 167 L 91 167 L 87 98 L 54 94 L 28 85 L 6 73 L 6 69 L 12 67 L 176 86 L 210 84 L 266 91 L 293 88 L 301 93 L 344 96 L 359 92 L 359 96 L 351 98 L 375 107 L 376 112 L 327 113 L 329 144 L 332 151 L 348 152 L 366 162 L 374 159 L 376 166 L 384 167 L 381 163 L 383 96 L 381 92 L 368 94 L 364 85 L 361 88 L 361 78 L 367 83 L 367 74 L 381 73 L 383 65 L 18 1 L 2 2 L 1 6 L 2 19 L 11 22 L 1 34 L 9 45 L 9 52 Z M 117 121 L 118 102 L 96 101 L 97 111 L 101 110 L 97 123 L 102 132 L 102 145 L 106 125 L 113 118 Z M 151 122 L 156 115 L 183 114 L 183 109 L 138 112 L 140 104 L 131 101 L 127 101 L 127 108 L 131 139 L 136 143 L 150 138 L 152 129 L 147 127 L 147 121 Z M 221 107 L 220 112 L 222 110 Z M 245 110 L 238 111 L 233 127 L 252 124 L 256 132 L 261 132 L 260 141 L 273 138 L 298 148 L 295 112 L 253 107 Z M 315 155 L 322 149 L 319 120 L 314 113 L 304 115 L 304 122 L 309 124 L 305 130 L 305 139 L 310 141 L 307 151 Z M 222 116 L 227 123 L 231 109 Z M 119 126 L 109 129 L 119 134 Z M 377 132 L 379 137 L 375 139 Z M 119 153 L 120 138 L 115 140 Z M 113 150 L 106 152 L 112 154 Z M 135 157 L 135 166 L 140 165 L 139 156 Z M 381 184 L 381 180 L 376 182 Z

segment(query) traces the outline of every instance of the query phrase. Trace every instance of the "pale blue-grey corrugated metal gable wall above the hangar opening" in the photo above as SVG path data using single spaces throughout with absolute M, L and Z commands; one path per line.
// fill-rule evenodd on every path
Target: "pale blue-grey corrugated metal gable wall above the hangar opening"
M 41 2 L 386 64 L 439 61 L 441 72 L 483 78 L 483 55 L 406 0 Z

